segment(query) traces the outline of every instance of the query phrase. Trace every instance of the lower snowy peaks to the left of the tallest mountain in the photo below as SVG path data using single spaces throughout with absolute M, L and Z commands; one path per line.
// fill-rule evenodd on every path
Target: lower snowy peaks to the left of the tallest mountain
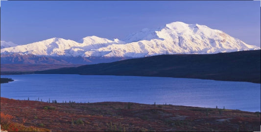
M 99 49 L 111 44 L 119 44 L 121 41 L 114 41 L 96 36 L 88 36 L 82 39 L 82 43 L 63 38 L 50 38 L 47 40 L 21 45 L 16 47 L 5 48 L 1 53 L 20 53 L 34 55 L 50 55 L 50 56 L 81 56 L 86 51 Z

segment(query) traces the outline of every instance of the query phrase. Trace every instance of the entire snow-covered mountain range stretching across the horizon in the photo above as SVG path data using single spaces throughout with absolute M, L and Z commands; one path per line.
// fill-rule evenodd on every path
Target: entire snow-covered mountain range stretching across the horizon
M 50 38 L 2 49 L 1 59 L 12 54 L 45 57 L 140 58 L 160 54 L 205 54 L 260 50 L 231 37 L 221 30 L 198 24 L 173 22 L 165 26 L 135 32 L 123 41 L 88 36 L 81 41 Z M 66 61 L 66 60 L 65 60 Z M 89 60 L 88 60 L 89 61 Z M 101 61 L 103 62 L 103 61 Z M 68 62 L 70 63 L 70 62 Z

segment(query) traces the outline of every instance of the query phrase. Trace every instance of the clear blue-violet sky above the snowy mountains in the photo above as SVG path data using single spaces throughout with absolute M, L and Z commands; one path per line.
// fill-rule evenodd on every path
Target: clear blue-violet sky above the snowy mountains
M 260 47 L 260 1 L 1 1 L 1 40 L 124 39 L 171 22 L 206 25 Z

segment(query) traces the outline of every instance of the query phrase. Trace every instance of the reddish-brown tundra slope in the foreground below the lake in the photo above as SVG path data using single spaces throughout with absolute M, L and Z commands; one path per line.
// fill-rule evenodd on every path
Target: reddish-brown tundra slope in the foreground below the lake
M 44 103 L 1 97 L 1 113 L 30 128 L 77 131 L 260 131 L 260 112 L 123 102 Z M 1 114 L 1 126 L 2 126 Z

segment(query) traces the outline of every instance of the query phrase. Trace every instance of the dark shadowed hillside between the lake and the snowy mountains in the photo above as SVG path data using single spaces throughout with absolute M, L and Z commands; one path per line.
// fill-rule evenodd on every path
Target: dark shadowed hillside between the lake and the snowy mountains
M 261 50 L 157 55 L 35 73 L 174 77 L 261 83 Z

